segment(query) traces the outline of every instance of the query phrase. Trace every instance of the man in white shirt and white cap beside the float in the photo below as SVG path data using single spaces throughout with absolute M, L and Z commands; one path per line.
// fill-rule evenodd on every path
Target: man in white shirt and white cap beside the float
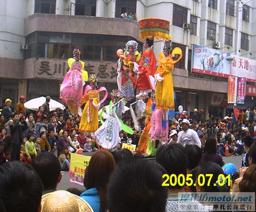
M 178 144 L 182 144 L 184 147 L 187 145 L 198 145 L 201 148 L 201 141 L 197 135 L 197 132 L 189 128 L 189 121 L 183 119 L 181 122 L 182 131 L 178 134 Z

